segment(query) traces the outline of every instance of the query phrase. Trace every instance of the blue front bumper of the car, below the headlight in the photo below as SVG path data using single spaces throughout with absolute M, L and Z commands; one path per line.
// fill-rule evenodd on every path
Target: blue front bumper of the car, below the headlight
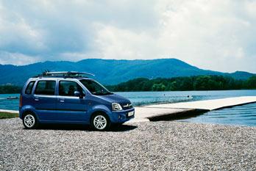
M 128 116 L 129 112 L 133 112 L 134 114 L 132 116 Z M 110 114 L 111 123 L 125 123 L 134 117 L 135 117 L 135 109 L 134 108 L 127 109 L 127 110 L 121 110 L 121 111 L 113 111 L 112 114 Z

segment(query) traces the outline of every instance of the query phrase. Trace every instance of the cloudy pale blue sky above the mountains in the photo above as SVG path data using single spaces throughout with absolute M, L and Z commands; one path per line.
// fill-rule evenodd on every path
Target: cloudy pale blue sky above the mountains
M 256 0 L 0 0 L 0 64 L 88 58 L 256 73 Z

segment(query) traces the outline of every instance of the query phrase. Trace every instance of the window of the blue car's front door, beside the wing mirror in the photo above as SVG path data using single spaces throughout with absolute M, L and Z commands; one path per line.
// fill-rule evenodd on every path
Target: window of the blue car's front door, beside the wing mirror
M 60 81 L 59 84 L 59 95 L 65 95 L 65 96 L 74 96 L 74 92 L 79 91 L 83 95 L 85 92 L 83 92 L 82 87 L 77 84 L 75 81 Z

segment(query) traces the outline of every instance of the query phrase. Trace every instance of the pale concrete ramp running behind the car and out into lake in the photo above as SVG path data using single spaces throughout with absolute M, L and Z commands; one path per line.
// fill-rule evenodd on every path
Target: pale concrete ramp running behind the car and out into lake
M 246 103 L 256 103 L 256 96 L 139 106 L 135 107 L 135 119 L 130 120 L 128 123 L 174 120 L 181 117 L 190 117 L 211 110 L 239 106 Z M 3 109 L 0 109 L 0 112 L 18 113 L 18 111 Z

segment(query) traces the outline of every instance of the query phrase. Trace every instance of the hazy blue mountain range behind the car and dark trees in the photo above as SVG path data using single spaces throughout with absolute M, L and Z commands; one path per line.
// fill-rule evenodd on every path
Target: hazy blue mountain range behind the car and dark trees
M 0 65 L 0 85 L 14 84 L 22 86 L 26 79 L 51 71 L 81 71 L 94 73 L 94 79 L 102 84 L 113 85 L 135 78 L 155 79 L 178 76 L 223 75 L 234 79 L 248 79 L 252 73 L 235 72 L 221 73 L 213 70 L 202 70 L 179 59 L 152 60 L 114 60 L 114 59 L 84 59 L 79 62 L 57 61 L 38 62 L 31 65 L 15 66 Z

